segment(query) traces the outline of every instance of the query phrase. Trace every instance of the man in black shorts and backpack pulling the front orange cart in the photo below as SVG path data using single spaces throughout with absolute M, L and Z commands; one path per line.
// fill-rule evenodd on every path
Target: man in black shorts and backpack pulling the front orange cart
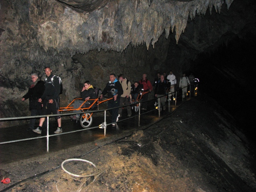
M 41 98 L 38 99 L 38 102 L 43 101 L 42 115 L 50 115 L 51 113 L 60 114 L 60 112 L 58 111 L 60 109 L 60 79 L 52 74 L 52 70 L 50 67 L 46 67 L 44 69 L 44 72 L 47 76 L 44 80 L 44 94 Z M 62 133 L 61 116 L 55 116 L 55 119 L 58 122 L 58 128 L 54 133 Z M 34 129 L 34 132 L 38 134 L 42 133 L 42 126 L 44 120 L 45 117 L 40 118 L 39 127 Z

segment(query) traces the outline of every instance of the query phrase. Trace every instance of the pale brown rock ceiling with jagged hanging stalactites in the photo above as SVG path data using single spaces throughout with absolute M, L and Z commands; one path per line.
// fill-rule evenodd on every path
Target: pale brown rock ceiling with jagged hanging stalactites
M 54 48 L 58 52 L 70 49 L 71 56 L 94 49 L 123 51 L 129 44 L 137 46 L 146 43 L 149 48 L 150 45 L 154 46 L 163 32 L 166 38 L 170 32 L 175 32 L 178 43 L 188 19 L 193 19 L 196 15 L 204 15 L 208 8 L 210 12 L 212 9 L 220 12 L 224 4 L 224 0 L 6 0 L 6 2 L 13 8 L 6 11 L 6 14 L 15 15 L 18 26 L 13 26 L 9 20 L 4 30 L 9 28 L 11 31 L 16 31 L 23 36 L 22 39 L 26 37 L 30 42 L 38 43 L 45 51 L 49 48 Z M 227 9 L 232 2 L 233 0 L 226 0 Z M 6 35 L 10 36 L 10 34 Z

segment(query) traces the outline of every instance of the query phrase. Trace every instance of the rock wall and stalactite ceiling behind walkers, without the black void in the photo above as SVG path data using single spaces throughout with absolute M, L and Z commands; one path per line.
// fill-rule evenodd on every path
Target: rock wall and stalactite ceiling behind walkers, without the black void
M 85 80 L 104 88 L 112 72 L 134 82 L 144 72 L 152 81 L 158 71 L 172 69 L 179 78 L 193 70 L 190 61 L 198 53 L 214 50 L 215 44 L 229 39 L 225 34 L 238 35 L 248 25 L 249 16 L 237 14 L 241 0 L 233 3 L 238 3 L 234 12 L 232 6 L 227 11 L 232 2 L 153 1 L 148 6 L 146 0 L 120 0 L 85 13 L 54 0 L 1 0 L 0 117 L 29 115 L 28 102 L 21 98 L 30 74 L 45 78 L 45 66 L 62 78 L 61 106 L 79 96 Z

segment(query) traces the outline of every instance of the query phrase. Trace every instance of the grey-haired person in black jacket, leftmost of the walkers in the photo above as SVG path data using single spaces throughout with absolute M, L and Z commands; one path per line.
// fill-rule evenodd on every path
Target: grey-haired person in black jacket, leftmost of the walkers
M 38 102 L 38 99 L 41 98 L 44 93 L 44 82 L 38 78 L 38 74 L 31 74 L 32 84 L 28 89 L 26 95 L 22 97 L 22 101 L 29 99 L 29 110 L 31 111 L 31 116 L 41 115 L 42 114 L 42 104 Z M 30 119 L 29 130 L 33 130 L 36 123 L 36 118 Z

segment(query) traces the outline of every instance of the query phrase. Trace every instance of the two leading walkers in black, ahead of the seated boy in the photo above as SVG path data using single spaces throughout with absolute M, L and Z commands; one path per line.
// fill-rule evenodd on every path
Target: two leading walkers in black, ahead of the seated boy
M 52 74 L 50 67 L 44 69 L 46 79 L 41 81 L 38 79 L 38 74 L 33 73 L 31 75 L 32 84 L 28 90 L 28 93 L 22 97 L 22 101 L 29 99 L 29 109 L 31 110 L 31 116 L 36 115 L 49 115 L 60 114 L 60 78 Z M 54 133 L 62 133 L 61 128 L 61 116 L 54 117 L 58 122 L 58 127 Z M 42 133 L 42 127 L 45 117 L 40 118 L 39 126 L 35 129 L 36 118 L 30 119 L 30 127 L 28 130 L 32 130 L 38 134 Z

